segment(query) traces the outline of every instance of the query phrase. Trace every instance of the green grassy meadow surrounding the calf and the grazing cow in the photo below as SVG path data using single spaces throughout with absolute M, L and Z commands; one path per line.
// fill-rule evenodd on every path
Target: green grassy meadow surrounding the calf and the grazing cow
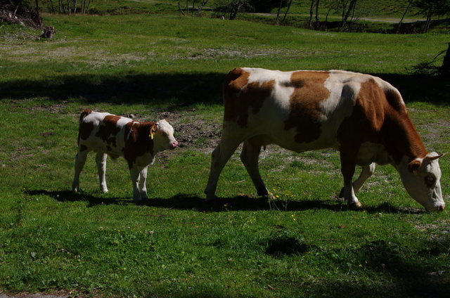
M 221 80 L 234 67 L 345 69 L 397 86 L 429 150 L 450 151 L 449 82 L 409 74 L 449 35 L 311 32 L 175 15 L 51 16 L 56 37 L 0 25 L 0 294 L 74 297 L 446 297 L 448 211 L 428 213 L 392 167 L 359 199 L 337 198 L 333 150 L 269 146 L 257 197 L 238 158 L 203 202 L 221 130 Z M 148 171 L 132 202 L 123 160 L 98 190 L 94 155 L 70 192 L 84 108 L 166 118 L 181 148 Z M 440 161 L 444 196 L 449 158 Z M 448 204 L 448 199 L 446 199 Z

